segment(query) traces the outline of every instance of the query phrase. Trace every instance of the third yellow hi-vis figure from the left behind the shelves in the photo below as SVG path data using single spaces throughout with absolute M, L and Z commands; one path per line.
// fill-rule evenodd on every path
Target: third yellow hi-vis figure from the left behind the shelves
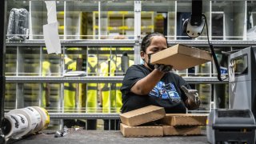
M 97 76 L 98 71 L 98 58 L 95 54 L 89 54 L 87 57 L 86 71 L 88 76 Z M 97 83 L 87 83 L 86 84 L 86 112 L 96 113 L 98 110 L 97 102 Z M 90 119 L 87 120 L 87 130 L 96 130 L 97 120 Z

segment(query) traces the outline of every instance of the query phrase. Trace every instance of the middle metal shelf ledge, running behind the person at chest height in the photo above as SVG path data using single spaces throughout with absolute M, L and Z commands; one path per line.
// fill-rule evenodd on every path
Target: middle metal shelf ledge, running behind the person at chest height
M 188 83 L 228 83 L 228 80 L 218 81 L 216 77 L 183 77 Z M 70 82 L 70 83 L 114 83 L 122 82 L 123 76 L 102 77 L 102 76 L 86 76 L 86 77 L 39 77 L 39 76 L 6 76 L 6 82 L 12 83 L 56 83 L 56 82 Z

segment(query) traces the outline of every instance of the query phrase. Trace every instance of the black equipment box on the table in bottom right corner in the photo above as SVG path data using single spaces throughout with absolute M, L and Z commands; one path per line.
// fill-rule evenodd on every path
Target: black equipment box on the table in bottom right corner
M 255 119 L 251 110 L 210 111 L 207 118 L 207 140 L 210 143 L 255 143 Z

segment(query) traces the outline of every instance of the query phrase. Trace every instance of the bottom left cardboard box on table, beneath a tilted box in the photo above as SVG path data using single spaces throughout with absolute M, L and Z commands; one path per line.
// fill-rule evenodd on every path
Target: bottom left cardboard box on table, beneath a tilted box
M 162 137 L 162 126 L 127 126 L 120 123 L 120 130 L 124 137 Z

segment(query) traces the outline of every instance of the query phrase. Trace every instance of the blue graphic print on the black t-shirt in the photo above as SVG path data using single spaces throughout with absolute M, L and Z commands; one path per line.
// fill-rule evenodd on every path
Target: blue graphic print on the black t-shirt
M 170 99 L 172 102 L 181 102 L 181 98 L 175 89 L 174 84 L 164 82 L 158 82 L 154 89 L 150 91 L 150 96 L 158 97 L 162 99 Z

